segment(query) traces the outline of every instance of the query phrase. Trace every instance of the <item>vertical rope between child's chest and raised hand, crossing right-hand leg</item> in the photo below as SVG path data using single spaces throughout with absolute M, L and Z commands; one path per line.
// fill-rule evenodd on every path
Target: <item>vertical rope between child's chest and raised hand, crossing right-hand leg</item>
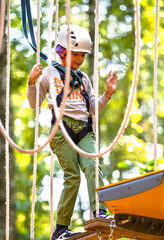
M 95 142 L 95 151 L 96 153 L 99 152 L 99 112 L 98 112 L 98 94 L 99 94 L 99 76 L 98 76 L 98 52 L 99 52 L 99 3 L 96 0 L 95 6 L 95 48 L 94 48 L 94 92 L 95 92 L 95 129 L 96 129 L 96 142 Z M 99 187 L 99 173 L 98 173 L 98 165 L 99 165 L 99 158 L 96 157 L 95 161 L 95 187 L 96 189 Z M 98 201 L 98 193 L 95 191 L 96 194 L 96 215 L 99 214 L 99 201 Z

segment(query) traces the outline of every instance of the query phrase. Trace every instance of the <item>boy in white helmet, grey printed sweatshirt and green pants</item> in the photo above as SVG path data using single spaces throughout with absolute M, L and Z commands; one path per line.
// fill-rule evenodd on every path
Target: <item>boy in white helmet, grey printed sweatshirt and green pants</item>
M 61 27 L 58 33 L 58 44 L 56 52 L 61 58 L 62 66 L 66 67 L 66 54 L 67 54 L 67 39 L 68 31 L 67 26 Z M 68 134 L 73 141 L 82 150 L 94 153 L 95 140 L 94 132 L 89 123 L 89 114 L 94 115 L 95 96 L 88 76 L 81 72 L 78 68 L 83 64 L 85 55 L 91 53 L 92 41 L 89 33 L 83 27 L 78 25 L 70 25 L 70 50 L 71 50 L 71 69 L 78 74 L 79 79 L 75 83 L 70 80 L 70 87 L 68 91 L 67 102 L 62 118 L 63 123 L 68 131 Z M 64 80 L 61 79 L 60 71 L 52 67 L 52 77 L 54 79 L 54 94 L 57 100 L 58 109 L 60 110 L 61 93 L 63 92 Z M 41 75 L 41 76 L 40 76 Z M 55 116 L 53 112 L 53 101 L 49 91 L 49 67 L 46 67 L 42 72 L 41 64 L 33 67 L 28 81 L 27 97 L 31 108 L 35 109 L 36 105 L 36 85 L 35 80 L 40 76 L 40 92 L 39 92 L 39 105 L 45 100 L 47 93 L 49 93 L 48 107 L 52 110 L 52 123 L 55 123 Z M 107 76 L 105 93 L 99 98 L 99 112 L 107 105 L 112 94 L 117 86 L 117 74 Z M 59 98 L 60 95 L 60 98 Z M 88 100 L 87 100 L 88 98 Z M 59 100 L 59 101 L 58 101 Z M 89 111 L 89 112 L 88 112 Z M 95 159 L 79 155 L 67 142 L 58 128 L 54 138 L 50 143 L 52 151 L 57 155 L 60 166 L 64 171 L 64 189 L 62 191 L 56 218 L 56 229 L 53 233 L 52 240 L 67 239 L 77 233 L 73 233 L 68 229 L 70 225 L 71 216 L 78 194 L 80 185 L 80 169 L 84 172 L 90 205 L 94 217 L 96 217 L 95 206 Z M 99 169 L 99 186 L 103 185 L 102 173 Z M 106 207 L 103 203 L 99 204 L 99 217 L 106 218 Z

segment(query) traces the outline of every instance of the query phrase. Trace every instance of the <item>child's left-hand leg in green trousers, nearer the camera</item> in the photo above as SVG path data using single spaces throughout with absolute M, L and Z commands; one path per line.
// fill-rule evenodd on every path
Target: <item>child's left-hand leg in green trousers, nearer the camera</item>
M 57 130 L 50 146 L 64 171 L 64 189 L 58 203 L 56 224 L 69 226 L 80 185 L 78 154 L 60 129 Z

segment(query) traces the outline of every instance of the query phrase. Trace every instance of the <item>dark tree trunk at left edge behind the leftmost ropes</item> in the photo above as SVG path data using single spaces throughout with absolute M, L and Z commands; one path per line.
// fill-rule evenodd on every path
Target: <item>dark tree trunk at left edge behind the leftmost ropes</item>
M 0 1 L 1 8 L 1 1 Z M 5 124 L 5 103 L 6 103 L 6 36 L 4 35 L 2 49 L 0 52 L 0 119 Z M 10 120 L 12 113 L 10 112 Z M 10 136 L 12 135 L 10 121 Z M 15 204 L 14 204 L 14 156 L 10 149 L 10 240 L 16 239 L 15 228 Z M 0 239 L 5 240 L 6 237 L 6 172 L 5 172 L 5 139 L 0 133 Z

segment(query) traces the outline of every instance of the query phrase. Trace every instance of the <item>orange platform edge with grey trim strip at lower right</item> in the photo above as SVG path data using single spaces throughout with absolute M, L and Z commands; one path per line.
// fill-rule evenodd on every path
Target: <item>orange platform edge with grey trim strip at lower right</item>
M 160 175 L 160 180 L 159 176 Z M 157 177 L 156 177 L 157 176 Z M 154 181 L 160 182 L 157 186 L 152 187 L 153 182 L 151 182 L 151 179 L 156 177 Z M 150 180 L 149 180 L 150 179 Z M 120 187 L 127 187 L 134 188 L 133 194 L 129 196 L 121 196 L 116 199 L 107 200 L 108 197 L 106 197 L 106 200 L 103 201 L 109 211 L 113 214 L 130 214 L 130 215 L 138 215 L 138 216 L 144 216 L 148 218 L 155 218 L 155 219 L 162 219 L 164 220 L 164 170 L 160 171 L 153 171 L 148 174 L 144 174 L 142 176 L 131 178 L 127 180 L 123 180 L 117 183 L 113 183 L 101 188 L 97 189 L 97 192 L 99 194 L 99 197 L 101 196 L 102 190 L 106 190 L 107 194 L 109 194 L 110 198 L 110 192 L 112 193 L 113 189 L 118 189 L 120 191 Z M 137 192 L 137 190 L 144 186 L 145 182 L 147 181 L 147 185 L 149 185 L 148 189 L 145 189 L 144 191 Z M 128 185 L 129 184 L 129 185 Z M 138 184 L 138 187 L 135 189 L 135 184 Z M 146 185 L 146 184 L 145 184 Z M 130 187 L 129 187 L 130 186 Z M 135 191 L 136 190 L 136 194 Z M 124 190 L 122 190 L 124 195 Z M 100 200 L 101 201 L 101 200 Z

